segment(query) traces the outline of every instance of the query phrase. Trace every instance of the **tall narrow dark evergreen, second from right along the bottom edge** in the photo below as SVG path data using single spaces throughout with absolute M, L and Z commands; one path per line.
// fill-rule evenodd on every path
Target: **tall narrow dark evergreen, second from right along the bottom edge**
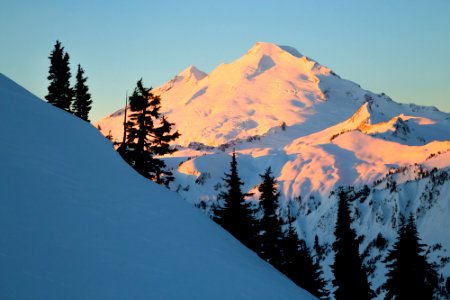
M 351 223 L 347 195 L 341 190 L 334 231 L 336 240 L 333 243 L 336 254 L 334 264 L 331 266 L 335 277 L 332 282 L 336 287 L 334 291 L 336 300 L 364 300 L 370 299 L 373 295 L 359 255 L 356 232 L 351 228 Z

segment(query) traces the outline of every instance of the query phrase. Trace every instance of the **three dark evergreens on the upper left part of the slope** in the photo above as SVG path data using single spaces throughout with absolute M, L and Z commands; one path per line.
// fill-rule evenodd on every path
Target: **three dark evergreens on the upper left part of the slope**
M 71 87 L 69 54 L 61 42 L 56 41 L 50 53 L 50 81 L 48 103 L 73 113 L 89 121 L 92 99 L 86 85 L 84 69 L 78 65 L 75 85 Z M 133 94 L 125 105 L 124 138 L 116 143 L 117 151 L 123 159 L 142 176 L 165 186 L 173 181 L 173 174 L 164 160 L 158 158 L 176 151 L 169 143 L 180 134 L 173 131 L 173 123 L 161 114 L 161 98 L 152 93 L 152 88 L 144 86 L 142 79 L 137 82 Z M 127 111 L 131 113 L 127 118 Z

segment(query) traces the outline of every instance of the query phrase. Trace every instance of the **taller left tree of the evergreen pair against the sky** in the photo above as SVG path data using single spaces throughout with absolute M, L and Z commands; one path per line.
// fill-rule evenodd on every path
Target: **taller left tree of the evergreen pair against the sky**
M 72 89 L 70 87 L 69 54 L 64 52 L 64 47 L 56 41 L 55 48 L 50 53 L 50 68 L 47 77 L 50 80 L 48 94 L 45 96 L 48 103 L 61 109 L 70 111 L 72 103 Z

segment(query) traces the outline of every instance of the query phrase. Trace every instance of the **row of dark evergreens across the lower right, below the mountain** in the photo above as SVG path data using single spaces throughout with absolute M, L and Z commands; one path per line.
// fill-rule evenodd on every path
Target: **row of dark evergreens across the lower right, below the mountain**
M 314 256 L 306 242 L 299 238 L 295 228 L 297 217 L 293 217 L 289 210 L 287 220 L 281 215 L 280 193 L 270 167 L 260 176 L 260 195 L 255 207 L 246 201 L 250 195 L 241 189 L 244 183 L 239 177 L 236 153 L 233 152 L 230 171 L 223 178 L 225 189 L 219 193 L 213 206 L 213 220 L 294 283 L 320 299 L 328 299 L 330 293 L 337 300 L 374 298 L 375 293 L 359 253 L 360 239 L 351 226 L 349 192 L 341 188 L 337 193 L 338 212 L 332 244 L 335 257 L 331 265 L 334 279 L 328 291 L 317 257 L 320 249 L 317 235 Z M 388 271 L 386 282 L 381 286 L 385 299 L 436 299 L 447 293 L 439 287 L 438 273 L 427 261 L 425 247 L 415 218 L 410 215 L 398 227 L 396 241 L 383 261 Z

